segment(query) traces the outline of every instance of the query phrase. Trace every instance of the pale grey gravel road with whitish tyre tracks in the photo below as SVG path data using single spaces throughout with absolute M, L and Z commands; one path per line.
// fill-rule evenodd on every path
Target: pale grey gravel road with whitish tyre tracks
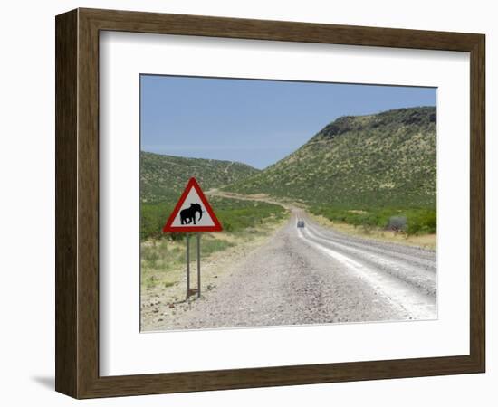
M 153 329 L 434 319 L 436 252 L 346 236 L 292 209 L 270 241 L 204 292 Z

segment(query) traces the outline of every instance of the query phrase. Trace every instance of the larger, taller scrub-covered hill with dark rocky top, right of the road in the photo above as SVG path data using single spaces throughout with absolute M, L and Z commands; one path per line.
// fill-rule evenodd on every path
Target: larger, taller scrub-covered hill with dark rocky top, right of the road
M 224 188 L 341 207 L 436 207 L 436 108 L 338 118 L 262 172 Z

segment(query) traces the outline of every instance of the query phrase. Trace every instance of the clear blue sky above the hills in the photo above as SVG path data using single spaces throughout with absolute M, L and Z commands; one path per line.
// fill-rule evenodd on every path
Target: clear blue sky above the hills
M 140 76 L 142 151 L 264 168 L 330 121 L 436 106 L 435 88 Z

